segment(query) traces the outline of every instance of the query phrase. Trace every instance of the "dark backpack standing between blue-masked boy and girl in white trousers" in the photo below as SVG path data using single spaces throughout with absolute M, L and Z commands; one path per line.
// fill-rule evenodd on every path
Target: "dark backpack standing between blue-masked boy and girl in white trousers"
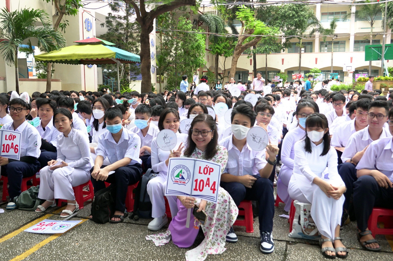
M 144 219 L 152 218 L 152 205 L 149 194 L 147 194 L 147 183 L 156 176 L 157 174 L 152 169 L 148 169 L 142 176 L 136 187 L 134 211 L 130 213 L 130 219 L 138 220 L 140 217 Z

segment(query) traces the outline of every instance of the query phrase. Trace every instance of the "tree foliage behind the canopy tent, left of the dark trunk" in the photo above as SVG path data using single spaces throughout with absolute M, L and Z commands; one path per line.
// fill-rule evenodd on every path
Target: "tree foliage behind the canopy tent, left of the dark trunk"
M 105 23 L 101 24 L 101 27 L 107 28 L 107 32 L 100 35 L 100 38 L 113 42 L 121 50 L 139 54 L 140 24 L 131 19 L 135 13 L 134 7 L 127 2 L 112 2 L 109 7 L 112 13 L 108 13 Z M 111 70 L 107 76 L 117 79 L 116 64 L 103 64 L 102 68 Z M 130 82 L 135 81 L 136 76 L 134 75 L 141 73 L 139 65 L 136 64 L 124 64 L 124 70 L 125 73 L 120 79 L 120 86 L 129 85 Z

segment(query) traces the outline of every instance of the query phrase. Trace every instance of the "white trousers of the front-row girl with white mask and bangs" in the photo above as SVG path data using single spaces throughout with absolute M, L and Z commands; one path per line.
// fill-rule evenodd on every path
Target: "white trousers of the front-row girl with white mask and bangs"
M 281 173 L 280 173 L 281 174 Z M 318 231 L 327 238 L 334 239 L 334 230 L 337 225 L 341 224 L 341 216 L 343 212 L 344 195 L 336 200 L 332 197 L 328 198 L 322 189 L 312 184 L 312 189 L 308 191 L 307 200 L 303 192 L 301 192 L 296 179 L 291 178 L 288 185 L 289 196 L 293 200 L 311 204 L 311 217 L 314 220 Z

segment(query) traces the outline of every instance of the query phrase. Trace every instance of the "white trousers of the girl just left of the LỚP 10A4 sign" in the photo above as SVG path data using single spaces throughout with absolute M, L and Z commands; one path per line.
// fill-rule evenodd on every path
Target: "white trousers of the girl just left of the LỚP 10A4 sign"
M 152 178 L 147 183 L 147 193 L 149 194 L 152 204 L 153 218 L 162 217 L 165 215 L 165 189 L 167 187 L 167 174 L 159 173 L 155 178 Z M 175 196 L 167 196 L 169 207 L 171 208 L 171 215 L 175 217 L 177 214 L 177 204 Z

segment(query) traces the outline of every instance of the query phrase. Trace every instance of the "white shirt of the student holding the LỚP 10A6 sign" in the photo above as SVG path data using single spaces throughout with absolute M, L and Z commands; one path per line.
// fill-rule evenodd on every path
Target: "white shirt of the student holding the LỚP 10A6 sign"
M 15 130 L 14 122 L 4 124 L 2 130 Z M 20 156 L 39 158 L 41 154 L 41 136 L 33 125 L 24 121 L 15 131 L 20 132 Z

